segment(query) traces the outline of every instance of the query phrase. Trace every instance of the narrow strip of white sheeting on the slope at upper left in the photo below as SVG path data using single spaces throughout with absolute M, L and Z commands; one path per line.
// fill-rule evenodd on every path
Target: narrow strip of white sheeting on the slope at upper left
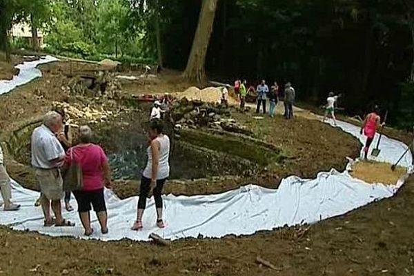
M 36 61 L 25 61 L 22 64 L 16 66 L 19 68 L 19 74 L 14 76 L 12 80 L 0 80 L 0 95 L 10 92 L 17 86 L 22 86 L 33 79 L 41 77 L 41 70 L 37 69 L 36 66 L 43 63 L 49 63 L 57 61 L 58 59 L 51 56 L 42 57 Z

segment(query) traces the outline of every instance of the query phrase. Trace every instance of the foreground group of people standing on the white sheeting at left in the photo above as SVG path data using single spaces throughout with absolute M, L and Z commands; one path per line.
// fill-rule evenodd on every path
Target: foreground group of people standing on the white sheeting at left
M 101 226 L 101 233 L 108 233 L 108 214 L 104 188 L 112 188 L 110 165 L 106 153 L 93 144 L 94 134 L 89 126 L 80 126 L 76 137 L 70 141 L 68 129 L 64 128 L 64 112 L 50 111 L 43 117 L 41 126 L 34 129 L 31 138 L 31 164 L 40 188 L 40 205 L 43 210 L 43 226 L 72 227 L 75 223 L 65 219 L 61 199 L 65 198 L 66 209 L 70 206 L 71 192 L 77 201 L 79 219 L 84 235 L 90 236 L 94 229 L 90 223 L 90 210 L 95 211 Z M 152 119 L 148 129 L 148 162 L 142 173 L 137 219 L 132 230 L 143 228 L 142 217 L 147 197 L 154 197 L 157 208 L 156 224 L 164 228 L 162 218 L 162 188 L 170 175 L 170 139 L 162 133 L 163 121 Z M 70 166 L 78 166 L 81 188 L 68 190 L 64 179 Z M 19 210 L 12 203 L 10 177 L 3 165 L 3 151 L 0 146 L 0 188 L 4 210 Z

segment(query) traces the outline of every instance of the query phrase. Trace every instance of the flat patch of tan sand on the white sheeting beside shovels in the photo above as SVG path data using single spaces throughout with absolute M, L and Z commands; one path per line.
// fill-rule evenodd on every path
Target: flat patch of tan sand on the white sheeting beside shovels
M 361 161 L 353 165 L 351 175 L 370 184 L 382 183 L 393 185 L 406 174 L 406 168 L 397 167 L 391 170 L 391 165 L 383 162 Z

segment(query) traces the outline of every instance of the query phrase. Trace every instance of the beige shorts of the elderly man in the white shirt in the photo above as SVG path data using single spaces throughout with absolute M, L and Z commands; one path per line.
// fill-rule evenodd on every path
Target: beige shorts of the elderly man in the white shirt
M 36 169 L 36 178 L 44 197 L 49 200 L 61 200 L 63 198 L 63 179 L 59 169 Z

